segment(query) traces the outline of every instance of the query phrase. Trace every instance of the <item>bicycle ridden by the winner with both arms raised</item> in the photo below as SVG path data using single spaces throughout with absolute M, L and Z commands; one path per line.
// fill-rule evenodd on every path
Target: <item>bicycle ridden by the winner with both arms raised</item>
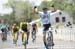
M 51 28 L 49 28 L 48 31 L 46 31 L 46 48 L 47 49 L 53 49 L 54 42 L 53 42 L 53 34 L 51 31 Z

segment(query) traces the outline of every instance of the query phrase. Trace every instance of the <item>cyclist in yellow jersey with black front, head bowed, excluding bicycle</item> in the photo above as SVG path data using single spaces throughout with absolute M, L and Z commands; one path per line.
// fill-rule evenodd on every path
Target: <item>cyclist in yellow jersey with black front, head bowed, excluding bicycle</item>
M 29 23 L 28 22 L 21 22 L 20 23 L 20 28 L 23 31 L 23 34 L 26 33 L 27 34 L 27 41 L 26 43 L 28 44 L 28 39 L 29 39 Z M 23 34 L 22 34 L 22 42 L 23 42 Z

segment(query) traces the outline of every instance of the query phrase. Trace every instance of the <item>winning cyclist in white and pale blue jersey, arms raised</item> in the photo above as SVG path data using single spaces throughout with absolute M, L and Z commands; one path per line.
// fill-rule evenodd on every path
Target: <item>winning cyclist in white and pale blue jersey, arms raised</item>
M 46 45 L 46 31 L 49 30 L 49 27 L 51 27 L 51 23 L 50 23 L 50 11 L 48 11 L 48 9 L 46 7 L 44 7 L 43 12 L 38 12 L 37 11 L 37 6 L 34 7 L 34 13 L 39 14 L 43 23 L 43 41 L 44 41 L 44 45 L 47 48 Z

